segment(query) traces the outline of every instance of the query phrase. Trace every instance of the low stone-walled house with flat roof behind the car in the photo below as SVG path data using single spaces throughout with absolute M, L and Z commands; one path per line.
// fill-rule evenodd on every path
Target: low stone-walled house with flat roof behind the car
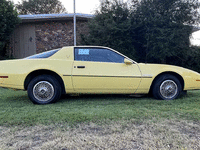
M 73 14 L 19 15 L 22 23 L 14 30 L 8 55 L 24 58 L 36 53 L 74 45 Z M 93 15 L 77 14 L 77 45 L 80 34 L 87 34 L 86 23 Z

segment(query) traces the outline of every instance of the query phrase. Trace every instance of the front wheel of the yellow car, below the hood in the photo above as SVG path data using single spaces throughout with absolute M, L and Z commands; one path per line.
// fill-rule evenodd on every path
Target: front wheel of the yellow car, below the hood
M 173 100 L 182 92 L 180 81 L 173 75 L 165 74 L 158 77 L 152 87 L 152 94 L 156 99 Z

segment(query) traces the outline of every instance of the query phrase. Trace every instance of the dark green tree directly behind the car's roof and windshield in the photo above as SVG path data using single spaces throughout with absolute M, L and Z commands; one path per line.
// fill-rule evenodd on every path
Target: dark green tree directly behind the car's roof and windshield
M 134 57 L 130 10 L 117 0 L 101 2 L 100 10 L 88 23 L 89 34 L 81 35 L 83 45 L 102 45 Z

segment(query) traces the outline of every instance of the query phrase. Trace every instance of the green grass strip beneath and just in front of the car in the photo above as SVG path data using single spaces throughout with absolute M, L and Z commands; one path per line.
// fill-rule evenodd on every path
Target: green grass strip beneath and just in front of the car
M 55 104 L 34 105 L 24 91 L 0 88 L 0 125 L 38 125 L 105 120 L 200 120 L 200 91 L 172 101 L 123 95 L 66 96 Z

